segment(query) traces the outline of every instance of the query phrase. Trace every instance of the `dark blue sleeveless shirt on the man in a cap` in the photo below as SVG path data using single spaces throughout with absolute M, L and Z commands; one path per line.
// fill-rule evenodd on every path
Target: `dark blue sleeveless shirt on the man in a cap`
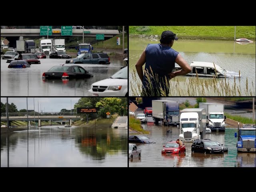
M 158 74 L 158 79 L 164 79 L 165 76 L 167 80 L 170 80 L 169 73 L 172 72 L 172 69 L 175 65 L 176 57 L 178 56 L 178 52 L 173 50 L 170 46 L 162 46 L 160 44 L 148 44 L 146 48 L 146 64 L 145 70 L 148 70 L 150 74 L 150 67 L 154 73 L 154 77 Z M 146 75 L 143 77 L 143 85 L 145 86 L 146 82 L 148 82 Z M 151 83 L 155 86 L 153 79 L 151 79 Z

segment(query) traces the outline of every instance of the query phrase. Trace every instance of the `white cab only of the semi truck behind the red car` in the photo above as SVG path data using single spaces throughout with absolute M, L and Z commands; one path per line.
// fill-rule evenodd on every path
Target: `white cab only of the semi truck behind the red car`
M 180 114 L 180 128 L 182 134 L 179 139 L 182 142 L 193 142 L 200 139 L 200 119 L 196 112 L 184 112 Z

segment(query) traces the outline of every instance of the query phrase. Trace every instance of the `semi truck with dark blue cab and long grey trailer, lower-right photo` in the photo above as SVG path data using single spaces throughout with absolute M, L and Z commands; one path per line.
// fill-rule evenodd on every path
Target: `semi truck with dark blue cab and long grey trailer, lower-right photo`
M 152 117 L 155 124 L 178 124 L 180 107 L 178 102 L 170 100 L 152 100 Z

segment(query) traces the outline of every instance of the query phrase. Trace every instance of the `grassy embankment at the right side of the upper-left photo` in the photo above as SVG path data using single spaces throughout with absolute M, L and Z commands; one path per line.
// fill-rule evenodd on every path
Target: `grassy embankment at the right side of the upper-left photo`
M 116 45 L 116 38 L 120 37 L 120 45 Z M 92 44 L 93 48 L 103 48 L 103 49 L 122 49 L 123 48 L 123 34 L 116 35 L 111 39 L 103 41 L 99 41 L 97 43 Z M 124 48 L 128 48 L 128 35 L 124 34 Z

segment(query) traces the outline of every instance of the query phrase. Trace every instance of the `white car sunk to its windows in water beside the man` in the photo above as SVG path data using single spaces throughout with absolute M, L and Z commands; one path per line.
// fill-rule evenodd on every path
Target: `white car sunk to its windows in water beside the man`
M 192 71 L 186 75 L 199 77 L 220 77 L 220 78 L 240 78 L 242 75 L 238 72 L 227 71 L 215 63 L 193 61 L 190 64 Z M 173 71 L 180 70 L 179 66 L 175 66 Z

